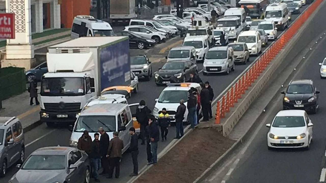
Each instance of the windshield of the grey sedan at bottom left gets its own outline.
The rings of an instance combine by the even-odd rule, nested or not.
[[[23,170],[63,170],[66,168],[64,155],[32,155],[24,165]]]

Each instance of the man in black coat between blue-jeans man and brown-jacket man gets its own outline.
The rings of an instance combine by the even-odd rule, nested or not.
[[[109,158],[106,157],[106,153],[109,149],[110,144],[110,137],[109,135],[104,131],[102,127],[98,129],[98,132],[101,134],[100,138],[100,154],[101,154],[101,165],[103,168],[103,171],[99,175],[108,174],[110,167],[109,167]]]

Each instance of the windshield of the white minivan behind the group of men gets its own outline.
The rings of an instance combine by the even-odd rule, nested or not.
[[[79,116],[74,131],[83,132],[87,130],[89,133],[96,133],[99,127],[102,127],[106,132],[114,132],[115,116]]]

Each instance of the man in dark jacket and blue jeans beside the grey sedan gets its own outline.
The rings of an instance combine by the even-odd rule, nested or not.
[[[95,133],[94,134],[94,141],[92,142],[91,146],[91,161],[93,164],[93,177],[95,178],[95,182],[99,182],[100,180],[98,179],[98,169],[101,168],[101,154],[100,154],[100,142],[98,140],[100,134]]]

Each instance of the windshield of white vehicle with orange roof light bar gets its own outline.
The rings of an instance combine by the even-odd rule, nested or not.
[[[169,90],[162,91],[160,97],[158,98],[158,103],[180,103],[180,100],[183,99],[184,102],[188,100],[188,91],[184,90]]]

